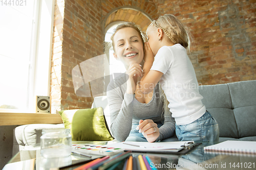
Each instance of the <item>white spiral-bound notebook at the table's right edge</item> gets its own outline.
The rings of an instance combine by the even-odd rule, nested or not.
[[[241,153],[256,154],[256,141],[237,141],[227,140],[218,144],[204,147],[206,152],[225,152],[225,153]]]

